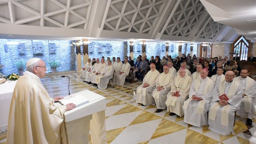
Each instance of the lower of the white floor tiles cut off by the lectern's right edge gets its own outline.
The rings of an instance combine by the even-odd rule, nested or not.
[[[106,119],[106,130],[128,126],[142,111],[113,115]]]

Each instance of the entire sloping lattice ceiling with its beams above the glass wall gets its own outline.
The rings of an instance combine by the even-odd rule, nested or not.
[[[0,38],[232,43],[236,31],[216,23],[201,1],[0,0]]]

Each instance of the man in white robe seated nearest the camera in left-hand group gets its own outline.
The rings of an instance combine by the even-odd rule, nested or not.
[[[114,68],[112,66],[112,61],[108,61],[108,67],[99,74],[96,78],[95,84],[98,85],[99,89],[106,89],[108,87],[109,80],[113,77]]]

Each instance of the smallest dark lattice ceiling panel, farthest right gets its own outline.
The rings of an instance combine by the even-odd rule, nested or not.
[[[219,33],[219,31],[222,30],[222,28],[225,25],[216,23],[212,18],[207,24],[207,26],[204,28],[202,33],[199,35],[199,38],[204,38],[204,39],[214,39],[215,36]]]

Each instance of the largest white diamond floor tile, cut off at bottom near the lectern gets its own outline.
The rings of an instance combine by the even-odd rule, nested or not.
[[[136,144],[150,140],[161,118],[126,127],[111,144]]]

